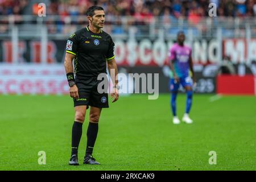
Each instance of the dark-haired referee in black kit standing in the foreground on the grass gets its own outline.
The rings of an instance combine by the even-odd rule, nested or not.
[[[89,26],[76,31],[69,36],[65,53],[65,71],[67,73],[69,93],[73,98],[75,107],[75,122],[72,127],[72,150],[70,165],[79,165],[77,150],[82,135],[82,123],[84,123],[86,109],[90,106],[89,126],[87,129],[87,144],[84,164],[100,164],[92,157],[94,143],[98,133],[98,121],[103,107],[109,107],[108,93],[99,93],[97,80],[100,73],[106,73],[108,69],[114,69],[117,75],[115,63],[114,42],[109,34],[102,31],[105,13],[100,6],[92,6],[86,12]],[[74,60],[74,69],[72,61]],[[76,77],[74,76],[74,73]],[[118,81],[114,80],[114,88],[111,94],[112,102],[118,100]]]

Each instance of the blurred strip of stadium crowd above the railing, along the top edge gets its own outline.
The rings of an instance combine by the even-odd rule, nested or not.
[[[218,16],[255,16],[256,0],[48,0],[40,1],[48,5],[49,15],[84,15],[92,5],[104,7],[106,14],[116,16],[135,16],[139,18],[171,15],[207,16],[208,5],[217,5]],[[39,3],[29,0],[0,0],[0,15],[30,14],[24,10],[29,4]],[[34,14],[36,12],[34,11]]]

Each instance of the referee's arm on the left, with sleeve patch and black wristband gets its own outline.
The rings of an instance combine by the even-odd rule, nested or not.
[[[78,88],[75,84],[75,76],[73,72],[73,59],[76,57],[77,53],[77,35],[72,34],[69,36],[67,46],[64,67],[68,78],[69,94],[73,98],[79,98]]]

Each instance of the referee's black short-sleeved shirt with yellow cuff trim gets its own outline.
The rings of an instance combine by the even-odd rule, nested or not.
[[[111,36],[102,30],[94,34],[88,27],[69,36],[66,52],[76,56],[74,72],[79,80],[106,73],[106,61],[115,57]]]

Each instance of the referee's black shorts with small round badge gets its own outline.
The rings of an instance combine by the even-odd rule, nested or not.
[[[93,107],[109,107],[108,93],[98,93],[98,82],[77,81],[76,86],[79,90],[79,98],[73,98],[74,107],[86,105]]]

